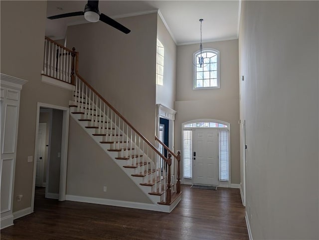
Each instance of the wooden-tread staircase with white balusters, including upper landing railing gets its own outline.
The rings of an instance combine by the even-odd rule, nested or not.
[[[75,48],[67,49],[46,37],[44,59],[43,75],[75,85],[69,102],[71,117],[148,196],[153,205],[147,209],[171,212],[181,199],[179,152],[175,155],[158,138],[155,147],[88,84],[78,73]],[[65,65],[68,70],[63,69]],[[167,158],[160,153],[160,145],[168,150]]]

